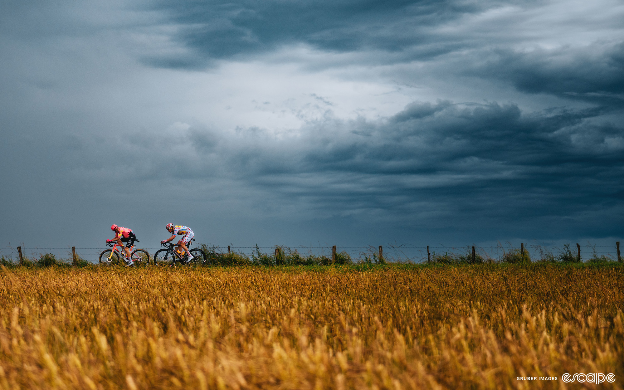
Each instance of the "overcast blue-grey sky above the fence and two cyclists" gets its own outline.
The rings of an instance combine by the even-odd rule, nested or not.
[[[0,241],[619,239],[623,20],[619,0],[2,1]]]

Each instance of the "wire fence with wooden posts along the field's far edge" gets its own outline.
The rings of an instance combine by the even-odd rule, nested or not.
[[[474,248],[475,255],[480,256],[484,260],[500,261],[506,253],[512,253],[513,251],[519,251],[522,248],[530,256],[532,261],[543,260],[547,256],[557,257],[564,251],[573,252],[574,255],[578,255],[580,260],[587,261],[592,258],[601,258],[603,260],[620,260],[620,242],[614,243],[614,245],[586,245],[577,244],[575,246],[565,245],[563,246],[547,246],[547,245],[525,245],[514,246],[510,243],[507,245],[496,246],[445,246],[445,245],[412,245],[412,244],[386,244],[381,246],[367,245],[367,246],[333,246],[333,245],[318,245],[318,246],[218,246],[207,244],[208,248],[212,248],[217,253],[234,252],[239,255],[252,257],[252,253],[260,252],[272,255],[273,251],[277,248],[280,250],[297,251],[303,256],[326,256],[331,258],[334,251],[336,253],[346,253],[350,256],[354,262],[368,260],[376,256],[379,258],[383,256],[384,260],[389,263],[426,263],[427,261],[435,260],[441,256],[472,256],[472,249]],[[200,246],[196,244],[195,247]],[[136,248],[139,248],[138,246]],[[147,250],[150,256],[153,256],[157,250],[162,249],[162,246],[158,247],[140,247]],[[59,260],[71,261],[75,250],[76,256],[90,263],[98,263],[99,256],[102,251],[107,249],[102,248],[22,248],[20,247],[7,247],[0,250],[0,258],[4,258],[7,261],[17,263],[19,261],[19,250],[22,251],[22,256],[28,260],[37,260],[41,256],[51,254],[59,258]]]

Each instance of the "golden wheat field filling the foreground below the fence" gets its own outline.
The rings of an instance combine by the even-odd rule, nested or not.
[[[624,383],[622,266],[3,267],[0,274],[2,389]],[[564,373],[616,379],[563,383]]]

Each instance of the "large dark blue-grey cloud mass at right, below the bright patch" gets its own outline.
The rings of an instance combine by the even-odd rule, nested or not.
[[[624,129],[593,123],[600,113],[415,103],[372,123],[309,124],[304,139],[271,140],[280,153],[236,148],[223,160],[248,182],[313,199],[336,215],[358,210],[366,219],[384,210],[386,222],[412,228],[449,227],[466,212],[561,223],[613,204],[624,188]],[[435,217],[414,220],[421,207]]]

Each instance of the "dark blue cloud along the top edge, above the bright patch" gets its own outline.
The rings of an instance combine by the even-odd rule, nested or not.
[[[529,2],[518,2],[529,4]],[[289,44],[323,51],[402,52],[402,61],[464,47],[431,29],[466,14],[509,2],[394,1],[160,1],[153,9],[179,27],[175,39],[208,59],[248,56]],[[193,62],[149,59],[155,66],[191,67]],[[167,62],[171,61],[171,62]]]

